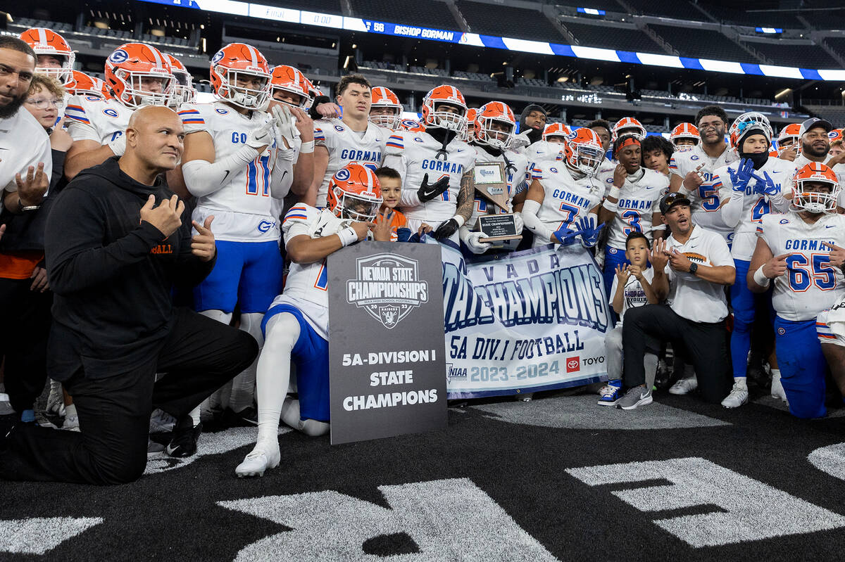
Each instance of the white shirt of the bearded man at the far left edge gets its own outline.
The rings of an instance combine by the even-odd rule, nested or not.
[[[26,177],[30,166],[38,169],[44,163],[47,180],[52,176],[50,137],[41,123],[25,108],[0,120],[0,196],[18,191],[14,176]]]

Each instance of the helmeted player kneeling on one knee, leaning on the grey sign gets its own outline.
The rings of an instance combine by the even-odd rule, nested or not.
[[[329,431],[329,299],[326,258],[344,246],[365,240],[382,203],[373,170],[348,164],[335,172],[328,207],[297,203],[285,215],[282,230],[291,270],[285,290],[273,300],[261,328],[259,356],[259,428],[255,447],[235,473],[263,476],[279,466],[279,419],[306,435]],[[297,365],[298,400],[286,398],[291,362]]]

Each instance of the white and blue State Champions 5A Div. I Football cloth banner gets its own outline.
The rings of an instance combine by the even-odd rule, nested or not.
[[[602,274],[581,245],[474,262],[453,247],[441,251],[450,399],[607,380],[610,310]]]

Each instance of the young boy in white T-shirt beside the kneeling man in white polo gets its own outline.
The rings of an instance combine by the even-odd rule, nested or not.
[[[648,254],[651,249],[648,238],[641,232],[634,231],[625,240],[625,257],[630,265],[616,266],[616,277],[610,294],[613,295],[610,305],[619,315],[619,322],[605,343],[608,350],[608,384],[599,391],[602,397],[598,403],[602,406],[614,406],[623,396],[622,392],[622,322],[625,311],[635,306],[657,304],[657,295],[651,289],[651,279],[654,270],[648,267]],[[649,388],[654,384],[657,371],[657,355],[646,354],[646,384]]]

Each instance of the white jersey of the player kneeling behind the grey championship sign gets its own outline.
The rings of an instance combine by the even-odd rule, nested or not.
[[[329,209],[320,210],[297,203],[286,213],[281,231],[287,245],[299,235],[311,238],[335,235],[351,222],[338,219]],[[329,339],[329,273],[325,264],[325,258],[313,263],[291,262],[285,289],[275,298],[273,305],[286,303],[296,306],[311,327],[324,339]]]

